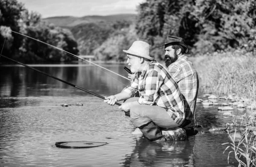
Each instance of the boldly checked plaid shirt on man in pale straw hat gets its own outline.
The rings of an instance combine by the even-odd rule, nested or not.
[[[141,105],[157,105],[166,108],[171,118],[181,124],[185,119],[182,94],[172,75],[159,62],[148,62],[130,87],[124,91],[133,96],[135,90],[140,92],[138,102]]]

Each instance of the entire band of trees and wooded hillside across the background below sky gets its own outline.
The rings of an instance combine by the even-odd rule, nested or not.
[[[245,48],[256,51],[255,0],[145,0],[136,19],[99,22],[65,29],[42,21],[17,0],[0,0],[0,44],[3,53],[25,62],[70,61],[73,57],[25,34],[72,54],[92,54],[98,60],[125,61],[122,51],[134,40],[152,45],[151,54],[163,59],[168,35],[183,37],[190,55]],[[12,30],[12,31],[8,31]]]

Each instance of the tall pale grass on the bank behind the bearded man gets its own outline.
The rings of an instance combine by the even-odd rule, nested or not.
[[[256,99],[256,54],[244,50],[214,52],[191,58],[200,78],[200,91]]]

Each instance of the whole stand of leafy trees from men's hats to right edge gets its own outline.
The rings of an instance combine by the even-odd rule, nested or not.
[[[156,53],[167,35],[183,37],[192,54],[255,51],[255,0],[145,0],[138,12],[137,34]]]

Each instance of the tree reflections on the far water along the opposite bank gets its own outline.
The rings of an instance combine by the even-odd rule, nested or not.
[[[105,65],[106,68],[127,76],[123,65]],[[36,69],[89,91],[103,95],[120,92],[129,81],[90,65],[38,66]],[[23,66],[0,67],[0,96],[67,96],[85,92]]]

